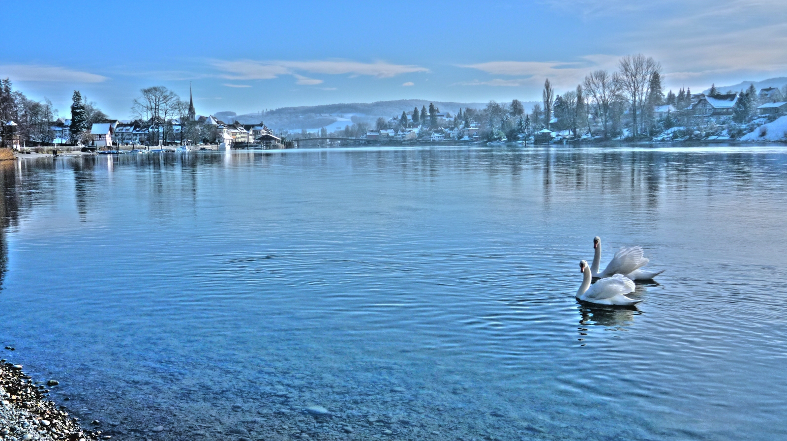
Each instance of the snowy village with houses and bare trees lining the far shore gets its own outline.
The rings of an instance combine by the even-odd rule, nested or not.
[[[752,83],[748,89],[708,93],[690,89],[665,94],[661,66],[641,54],[619,61],[618,72],[597,70],[574,90],[556,94],[545,80],[541,102],[529,111],[523,102],[489,101],[484,108],[403,108],[390,118],[350,119],[319,114],[314,121],[347,121],[343,129],[327,126],[300,131],[273,130],[264,121],[229,122],[201,116],[189,101],[164,86],[140,90],[134,119],[113,119],[98,105],[72,96],[70,118],[58,117],[50,101],[41,103],[0,81],[0,148],[19,153],[74,151],[155,153],[194,149],[286,149],[342,145],[430,143],[568,144],[623,142],[784,142],[787,141],[787,84],[781,88]],[[275,112],[275,111],[273,111]],[[264,112],[260,113],[264,117]],[[330,124],[336,129],[338,124]]]

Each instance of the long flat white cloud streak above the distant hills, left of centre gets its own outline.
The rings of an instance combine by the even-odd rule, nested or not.
[[[298,84],[319,84],[322,80],[309,79],[298,72],[325,75],[368,75],[390,78],[412,72],[429,72],[429,69],[413,64],[390,64],[384,61],[362,63],[349,60],[324,61],[212,61],[212,65],[224,73],[225,79],[274,79],[279,75],[294,75]],[[305,82],[305,83],[301,83]]]

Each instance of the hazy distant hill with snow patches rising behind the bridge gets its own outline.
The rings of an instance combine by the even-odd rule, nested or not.
[[[230,116],[233,112],[220,112],[223,116],[230,116],[224,119],[227,123],[240,121],[244,124],[254,124],[264,121],[265,125],[274,130],[303,130],[320,129],[327,127],[328,131],[338,130],[345,125],[352,125],[353,122],[364,121],[374,124],[375,120],[382,116],[390,118],[394,115],[400,116],[402,111],[412,112],[413,108],[419,110],[423,107],[429,108],[429,104],[434,103],[441,112],[451,112],[456,114],[460,108],[484,108],[486,103],[459,103],[447,101],[428,101],[428,100],[397,100],[397,101],[376,101],[373,103],[345,103],[329,105],[312,105],[302,107],[283,107],[268,112],[247,113],[246,115]],[[533,107],[534,102],[523,102],[527,111]],[[219,114],[217,113],[216,116]]]

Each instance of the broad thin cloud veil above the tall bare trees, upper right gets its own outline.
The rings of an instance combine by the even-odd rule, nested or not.
[[[620,24],[619,53],[662,61],[667,82],[700,86],[787,71],[783,0],[541,0],[589,23]],[[637,24],[630,26],[627,24]]]

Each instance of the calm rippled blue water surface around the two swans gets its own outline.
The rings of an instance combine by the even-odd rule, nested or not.
[[[113,439],[785,439],[785,173],[784,147],[2,164],[0,344]],[[596,235],[666,270],[636,309],[575,300]]]

